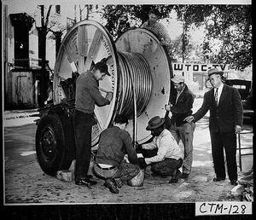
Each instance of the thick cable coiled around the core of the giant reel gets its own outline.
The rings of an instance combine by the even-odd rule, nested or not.
[[[137,101],[137,117],[148,105],[152,91],[152,78],[148,62],[138,53],[118,52],[120,67],[119,101],[117,113],[133,117],[133,90]]]

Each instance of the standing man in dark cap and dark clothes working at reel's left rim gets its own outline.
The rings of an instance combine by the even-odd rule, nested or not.
[[[91,71],[83,72],[76,81],[75,111],[73,113],[73,127],[76,142],[75,184],[90,188],[96,181],[87,175],[90,166],[91,128],[96,124],[94,108],[110,104],[113,93],[108,92],[103,97],[98,88],[98,81],[108,72],[104,62],[97,62]]]

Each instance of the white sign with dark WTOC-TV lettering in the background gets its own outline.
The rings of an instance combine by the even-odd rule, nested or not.
[[[195,64],[195,63],[172,63],[174,72],[207,72],[208,69],[218,68],[220,71],[227,72],[230,69],[228,64]]]

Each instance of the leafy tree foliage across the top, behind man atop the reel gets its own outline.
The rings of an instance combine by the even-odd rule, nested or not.
[[[191,26],[205,26],[206,36],[201,49],[209,61],[231,64],[238,69],[252,63],[252,5],[108,5],[103,9],[103,18],[107,19],[108,31],[116,38],[131,26],[140,26],[148,19],[152,8],[159,9],[160,19],[168,18],[170,12],[175,11],[177,20],[183,21],[185,54],[190,47]],[[216,41],[217,52],[212,49]]]

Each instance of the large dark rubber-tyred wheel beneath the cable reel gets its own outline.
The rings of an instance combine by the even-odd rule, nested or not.
[[[60,114],[44,115],[36,132],[36,152],[41,169],[50,176],[67,170],[74,158],[74,133],[71,118]]]

